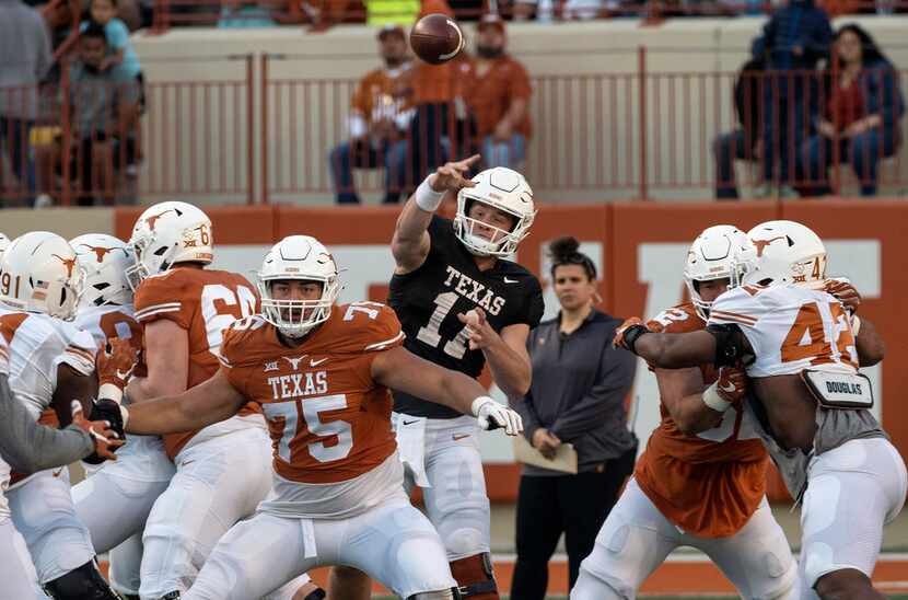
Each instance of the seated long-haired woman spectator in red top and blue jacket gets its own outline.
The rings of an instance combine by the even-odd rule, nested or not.
[[[861,195],[876,195],[876,166],[901,146],[899,119],[905,100],[898,73],[880,51],[876,43],[855,24],[842,26],[836,34],[834,53],[823,77],[824,92],[817,135],[802,148],[806,169],[805,196],[830,194],[826,171],[835,158],[850,161],[861,181]],[[836,64],[837,62],[837,64]]]

